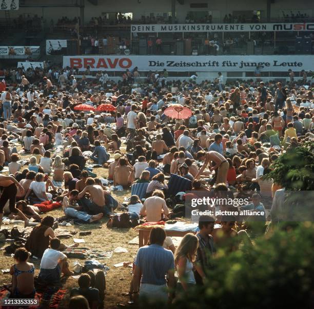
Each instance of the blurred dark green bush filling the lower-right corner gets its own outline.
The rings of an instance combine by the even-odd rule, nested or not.
[[[276,229],[254,246],[218,251],[204,286],[173,304],[181,308],[313,308],[314,223]]]

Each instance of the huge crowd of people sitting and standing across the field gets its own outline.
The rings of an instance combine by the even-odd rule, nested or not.
[[[237,250],[240,241],[250,242],[252,232],[264,233],[266,221],[280,217],[271,213],[272,199],[283,188],[265,176],[284,152],[314,138],[314,88],[307,77],[295,80],[292,71],[287,84],[225,83],[221,73],[213,82],[198,83],[197,74],[171,81],[166,71],[149,72],[139,84],[137,69],[126,71],[119,83],[106,72],[77,81],[71,68],[6,72],[0,169],[8,173],[0,174],[0,225],[4,215],[24,220],[25,226],[38,223],[25,248],[14,253],[8,287],[14,298],[34,296],[29,256],[41,259],[42,282],[72,274],[62,252],[68,246],[54,234],[55,218],[43,215],[49,211],[62,207],[67,218],[84,223],[106,218],[107,228],[158,224],[183,215],[173,202],[182,205],[187,189],[180,188],[180,198],[171,196],[173,175],[188,181],[194,197],[248,194],[250,203],[242,209],[264,213],[258,231],[232,215],[202,216],[197,234],[185,235],[175,248],[163,228],[151,229],[149,245],[136,255],[129,294],[133,301],[140,296],[172,302],[174,290],[182,297],[206,278],[208,253]],[[107,110],[97,109],[103,104]],[[171,107],[189,112],[188,117],[169,115]],[[95,167],[108,169],[107,179],[94,173]],[[112,195],[134,185],[146,186],[144,195],[132,194],[126,204]],[[104,279],[96,281],[82,274],[70,307],[101,307],[104,289],[97,286]]]

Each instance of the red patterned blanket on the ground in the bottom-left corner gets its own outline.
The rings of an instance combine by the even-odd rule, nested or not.
[[[37,290],[37,289],[36,289]],[[64,298],[67,294],[67,290],[58,289],[57,287],[46,287],[43,291],[36,291],[35,299],[37,299],[41,305],[52,309],[61,309],[65,307]],[[4,287],[0,289],[0,299],[8,299],[10,292]],[[8,308],[6,306],[1,306],[0,308]],[[17,308],[15,306],[10,306],[10,308]],[[26,308],[26,307],[25,307]],[[38,306],[28,306],[29,309],[38,309]]]

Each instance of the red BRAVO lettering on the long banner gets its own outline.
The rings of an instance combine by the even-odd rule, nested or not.
[[[106,61],[107,60],[107,61]],[[70,58],[71,68],[87,68],[91,69],[128,69],[132,66],[132,60],[130,58],[99,58],[96,65],[95,58]]]

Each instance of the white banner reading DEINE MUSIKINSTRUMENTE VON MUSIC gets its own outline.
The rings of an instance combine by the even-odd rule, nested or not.
[[[314,23],[131,25],[131,32],[314,31]]]

